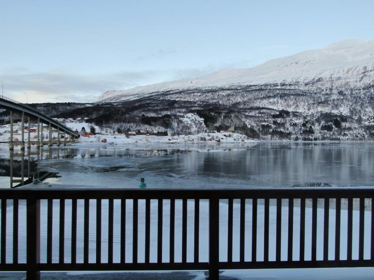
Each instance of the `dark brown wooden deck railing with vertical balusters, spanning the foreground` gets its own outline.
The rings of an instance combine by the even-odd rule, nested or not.
[[[373,197],[373,187],[0,190],[0,270],[28,279],[209,270],[218,279],[225,269],[368,267]]]

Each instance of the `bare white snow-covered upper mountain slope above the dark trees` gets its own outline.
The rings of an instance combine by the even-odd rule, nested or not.
[[[106,91],[96,102],[119,102],[179,91],[235,89],[243,86],[297,88],[364,88],[374,83],[374,41],[344,40],[320,50],[269,60],[248,69],[230,69],[199,78]],[[199,100],[203,96],[174,96]]]

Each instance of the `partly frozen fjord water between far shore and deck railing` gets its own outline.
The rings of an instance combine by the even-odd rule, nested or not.
[[[27,184],[36,171],[52,186],[137,188],[140,177],[148,187],[166,189],[374,186],[374,143],[77,145],[25,154],[1,149],[3,188],[10,187],[10,165],[13,187],[22,185],[22,173]]]

